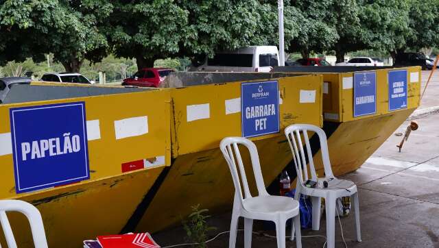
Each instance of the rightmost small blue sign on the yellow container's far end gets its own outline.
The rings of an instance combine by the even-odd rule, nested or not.
[[[407,70],[389,71],[389,110],[407,108]]]

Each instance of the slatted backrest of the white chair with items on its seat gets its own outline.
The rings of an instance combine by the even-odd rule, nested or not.
[[[308,131],[315,132],[320,140],[320,150],[322,151],[325,176],[334,177],[331,169],[331,162],[329,161],[327,135],[324,134],[324,131],[315,125],[289,125],[285,128],[285,136],[287,136],[289,148],[291,148],[293,153],[294,165],[296,166],[298,182],[300,182],[300,184],[303,184],[303,182],[306,182],[309,179],[309,173],[311,173],[311,180],[317,182],[318,179],[311,152],[311,145],[309,145]],[[305,142],[305,146],[303,145],[302,140]],[[307,169],[307,159],[309,162],[309,171]]]

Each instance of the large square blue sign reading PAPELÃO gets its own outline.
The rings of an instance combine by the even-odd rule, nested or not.
[[[10,109],[16,193],[90,178],[85,103]]]

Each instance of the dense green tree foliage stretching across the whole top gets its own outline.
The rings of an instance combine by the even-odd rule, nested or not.
[[[439,45],[439,0],[284,2],[285,48],[305,58]],[[67,71],[108,54],[134,58],[138,68],[165,58],[195,62],[215,51],[278,45],[277,1],[3,0],[0,37],[0,65],[49,53]]]

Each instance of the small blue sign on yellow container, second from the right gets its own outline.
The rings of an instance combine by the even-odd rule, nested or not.
[[[377,75],[354,73],[354,117],[377,112]]]

